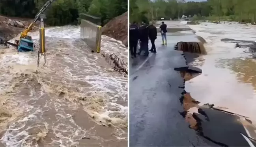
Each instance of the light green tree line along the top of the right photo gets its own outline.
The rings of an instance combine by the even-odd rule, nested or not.
[[[159,20],[161,17],[178,19],[185,15],[193,19],[224,19],[254,23],[255,6],[256,0],[130,0],[130,20]]]

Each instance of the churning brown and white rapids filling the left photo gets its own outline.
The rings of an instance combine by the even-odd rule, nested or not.
[[[29,35],[38,42],[38,32]],[[101,54],[90,52],[79,38],[79,26],[48,28],[45,35],[47,63],[43,66],[41,56],[39,73],[37,50],[0,49],[0,142],[6,147],[71,147],[84,138],[95,144],[126,140],[127,78]],[[120,41],[103,35],[101,47],[127,60]]]

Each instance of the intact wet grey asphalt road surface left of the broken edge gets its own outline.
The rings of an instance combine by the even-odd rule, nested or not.
[[[173,49],[179,41],[174,37],[161,47],[158,36],[157,54],[130,62],[130,147],[209,147],[178,113],[183,78],[174,68],[186,63],[183,52]]]

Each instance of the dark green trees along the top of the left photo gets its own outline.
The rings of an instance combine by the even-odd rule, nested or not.
[[[0,0],[0,14],[34,18],[47,0]],[[47,9],[47,24],[77,24],[79,13],[101,17],[103,24],[127,11],[127,0],[55,0]]]

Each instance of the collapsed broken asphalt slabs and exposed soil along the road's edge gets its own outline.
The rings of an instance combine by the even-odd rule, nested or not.
[[[189,48],[180,47],[177,49],[189,50]],[[189,54],[184,54],[184,57],[190,58]],[[214,108],[214,104],[200,106],[200,102],[185,91],[185,82],[201,74],[200,69],[188,65],[175,70],[180,72],[184,80],[184,86],[180,87],[184,89],[180,97],[184,111],[179,113],[189,123],[189,128],[220,147],[254,147],[256,145],[256,128],[249,118]]]

